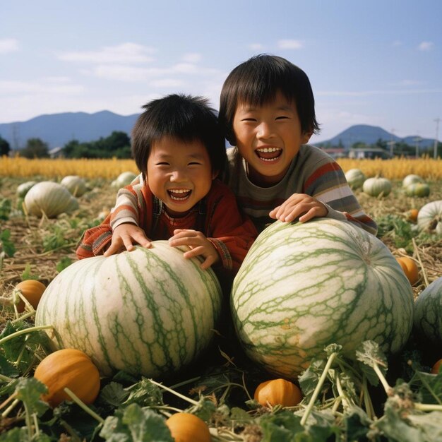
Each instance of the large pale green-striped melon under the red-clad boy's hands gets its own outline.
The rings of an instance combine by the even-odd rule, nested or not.
[[[44,291],[35,324],[54,325],[102,374],[172,374],[207,347],[220,314],[220,284],[200,264],[167,241],[76,261]]]

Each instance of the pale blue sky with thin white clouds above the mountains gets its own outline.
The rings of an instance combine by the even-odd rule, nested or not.
[[[136,114],[172,92],[217,109],[229,71],[265,52],[309,76],[313,142],[353,124],[434,138],[441,18],[440,0],[1,1],[0,123]]]

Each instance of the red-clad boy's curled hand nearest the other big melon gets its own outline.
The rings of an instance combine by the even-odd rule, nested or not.
[[[215,246],[197,230],[175,229],[174,236],[169,238],[169,245],[172,247],[189,246],[191,250],[184,252],[184,258],[193,258],[193,256],[203,256],[205,261],[200,267],[205,270],[210,265],[220,261],[220,256]]]

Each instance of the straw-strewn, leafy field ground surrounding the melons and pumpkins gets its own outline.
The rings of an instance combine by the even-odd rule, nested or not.
[[[110,181],[90,181],[80,208],[56,220],[27,217],[16,187],[24,179],[3,178],[0,186],[0,294],[7,297],[23,279],[47,285],[76,259],[81,233],[100,222],[114,203]],[[395,256],[419,264],[414,295],[442,275],[442,238],[418,232],[412,208],[442,199],[441,183],[426,198],[405,196],[400,182],[387,198],[356,191],[378,222],[378,237]],[[254,388],[272,376],[251,364],[225,321],[210,350],[174,378],[150,380],[119,372],[103,378],[94,405],[64,402],[54,410],[40,400],[44,386],[32,372],[51,351],[32,314],[20,320],[0,306],[0,441],[172,441],[165,417],[193,412],[210,424],[213,441],[440,441],[442,374],[430,374],[441,349],[414,337],[386,359],[374,342],[359,349],[357,362],[330,345],[324,359],[312,361],[299,378],[304,398],[296,407],[261,407]]]

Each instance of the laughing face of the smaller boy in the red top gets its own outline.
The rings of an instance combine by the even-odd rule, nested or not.
[[[170,216],[186,215],[210,191],[215,176],[201,141],[184,143],[165,136],[153,143],[148,157],[148,186],[165,203]]]

